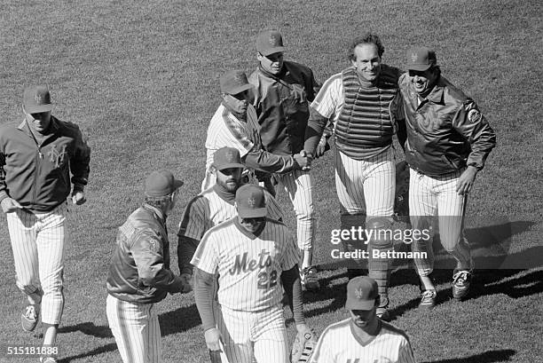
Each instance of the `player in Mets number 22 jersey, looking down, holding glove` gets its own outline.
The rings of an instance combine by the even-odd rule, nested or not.
[[[293,302],[298,333],[309,331],[295,242],[285,225],[266,217],[261,186],[241,186],[235,205],[238,215],[211,228],[191,261],[206,344],[210,351],[219,351],[223,343],[229,362],[287,363],[283,287]],[[211,307],[216,272],[218,314]]]

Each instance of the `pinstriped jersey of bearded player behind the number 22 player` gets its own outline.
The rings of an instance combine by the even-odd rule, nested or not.
[[[280,221],[283,218],[283,211],[278,202],[268,191],[264,191],[264,197],[268,210],[267,217]],[[204,233],[208,232],[211,227],[220,225],[237,214],[233,200],[224,200],[211,186],[198,194],[186,206],[177,234],[200,241]]]

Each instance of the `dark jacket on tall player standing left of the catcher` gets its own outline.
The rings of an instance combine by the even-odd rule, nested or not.
[[[302,151],[309,102],[319,91],[311,69],[285,61],[278,75],[258,67],[248,82],[255,86],[254,105],[264,150],[279,155]]]

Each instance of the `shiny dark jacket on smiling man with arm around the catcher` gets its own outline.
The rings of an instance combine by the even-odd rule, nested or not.
[[[399,80],[405,109],[405,160],[414,170],[439,176],[471,165],[481,170],[496,134],[473,99],[439,77],[419,105],[409,75]]]

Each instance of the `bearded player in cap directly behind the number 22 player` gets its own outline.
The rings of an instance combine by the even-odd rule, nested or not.
[[[237,215],[234,198],[236,191],[243,183],[241,172],[244,167],[241,163],[240,152],[236,148],[221,147],[213,154],[213,162],[209,169],[216,179],[216,184],[189,202],[177,232],[179,237],[177,261],[181,276],[186,280],[192,280],[191,259],[204,233],[211,227]],[[267,191],[264,195],[268,209],[267,216],[281,221],[283,212],[279,204]]]

